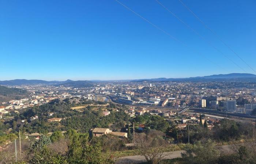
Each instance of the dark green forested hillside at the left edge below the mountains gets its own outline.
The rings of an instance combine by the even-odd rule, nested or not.
[[[11,99],[22,99],[28,95],[27,90],[18,88],[8,88],[0,85],[0,103]]]

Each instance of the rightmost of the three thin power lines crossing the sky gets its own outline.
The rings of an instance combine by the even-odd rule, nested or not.
[[[193,16],[196,17],[197,20],[199,20],[200,23],[203,24],[204,27],[206,27],[208,30],[210,30],[212,32],[212,34],[214,34],[215,36],[217,36],[217,38],[227,47],[229,48],[230,51],[232,51],[238,58],[240,58],[248,67],[250,67],[255,73],[256,71],[248,64],[245,62],[245,60],[243,60],[229,45],[227,45],[219,35],[217,35],[210,27],[208,27],[190,8],[187,7],[187,5],[185,5],[181,0],[178,0],[180,1],[180,3],[188,9],[189,12],[192,13]]]

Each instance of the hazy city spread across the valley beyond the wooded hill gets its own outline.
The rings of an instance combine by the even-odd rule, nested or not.
[[[230,113],[235,116],[249,117],[256,108],[256,86],[255,77],[252,82],[245,82],[248,79],[244,74],[236,74],[237,77],[230,78],[191,78],[167,81],[162,79],[132,80],[132,81],[0,81],[5,86],[27,90],[22,99],[1,100],[1,118],[4,114],[20,112],[32,106],[38,106],[53,99],[87,99],[102,102],[114,102],[118,104],[136,107],[131,117],[142,115],[142,109],[150,110],[152,114],[168,115],[168,110],[182,110],[200,112],[215,112],[225,116]],[[240,80],[234,80],[235,78]],[[198,82],[200,79],[201,82]],[[205,79],[205,80],[202,80]],[[211,79],[211,80],[209,80]],[[9,85],[7,85],[9,83]],[[20,85],[17,85],[20,83]],[[20,91],[19,90],[19,91]],[[6,101],[4,101],[6,100]],[[154,109],[154,110],[153,110]],[[157,109],[161,109],[157,111]],[[190,109],[190,110],[189,110]],[[180,112],[180,111],[179,111]],[[187,111],[184,111],[184,113]],[[253,112],[256,115],[256,111]],[[169,115],[168,115],[169,116]]]

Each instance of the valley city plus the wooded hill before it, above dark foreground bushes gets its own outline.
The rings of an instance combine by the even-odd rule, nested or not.
[[[0,88],[1,127],[6,133],[22,131],[24,142],[75,129],[96,137],[111,134],[129,145],[131,133],[155,129],[170,142],[186,143],[189,126],[191,133],[197,126],[215,131],[222,120],[255,126],[253,82],[14,81],[2,81]],[[10,145],[1,144],[1,149]]]

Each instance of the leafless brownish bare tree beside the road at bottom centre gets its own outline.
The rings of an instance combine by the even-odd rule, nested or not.
[[[150,130],[148,133],[139,133],[135,136],[135,147],[148,163],[158,164],[168,153],[168,143],[163,139],[164,133]]]

